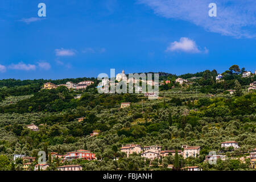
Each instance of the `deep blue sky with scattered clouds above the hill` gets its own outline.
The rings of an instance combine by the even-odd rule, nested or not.
[[[46,18],[38,4],[46,4]],[[0,79],[256,69],[256,2],[0,1]]]

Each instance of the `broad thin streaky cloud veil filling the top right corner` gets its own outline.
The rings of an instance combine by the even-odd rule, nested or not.
[[[235,38],[256,37],[255,0],[215,0],[217,17],[208,15],[210,0],[137,0],[165,18],[187,20],[210,32]]]

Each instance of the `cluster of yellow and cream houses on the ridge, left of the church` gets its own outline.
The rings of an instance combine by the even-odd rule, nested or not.
[[[93,84],[93,81],[81,81],[78,84],[73,83],[72,81],[68,81],[66,84],[60,84],[60,85],[55,85],[52,84],[51,82],[47,82],[44,84],[44,89],[54,89],[57,88],[58,86],[66,86],[68,89],[86,89],[87,86]]]

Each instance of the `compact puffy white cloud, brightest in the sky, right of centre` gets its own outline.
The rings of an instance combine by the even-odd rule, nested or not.
[[[180,38],[179,42],[175,41],[170,43],[167,47],[166,52],[182,51],[189,53],[201,53],[203,51],[196,45],[196,42],[189,38]],[[208,53],[208,49],[205,48],[205,53]]]

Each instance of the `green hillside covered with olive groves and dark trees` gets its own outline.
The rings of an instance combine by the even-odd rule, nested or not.
[[[232,67],[230,67],[232,68]],[[199,166],[203,170],[251,170],[250,152],[256,148],[256,93],[248,90],[256,76],[242,77],[229,69],[216,81],[216,71],[181,76],[161,73],[160,98],[148,100],[144,94],[99,94],[95,78],[63,80],[0,80],[0,170],[23,170],[14,154],[38,159],[46,151],[49,167],[80,164],[84,170],[168,170],[176,165],[175,156],[144,160],[140,154],[126,157],[125,144],[162,146],[162,150],[184,150],[181,145],[200,146],[200,154],[184,159],[179,168]],[[179,84],[176,78],[188,79]],[[192,78],[195,77],[195,78]],[[192,79],[189,79],[192,78]],[[85,90],[42,89],[44,82],[94,81]],[[227,90],[235,90],[230,94]],[[81,98],[75,99],[77,94]],[[130,107],[120,108],[122,102]],[[77,118],[84,118],[81,122]],[[38,126],[38,131],[27,125]],[[93,131],[98,135],[91,136]],[[221,142],[236,141],[240,148],[221,147]],[[89,150],[97,160],[52,159],[56,152]],[[204,162],[209,151],[228,156],[217,164]],[[245,157],[245,160],[241,160]],[[114,160],[118,159],[118,160]],[[15,164],[14,164],[15,163]],[[37,160],[31,162],[34,170]],[[182,165],[182,166],[181,166]]]

